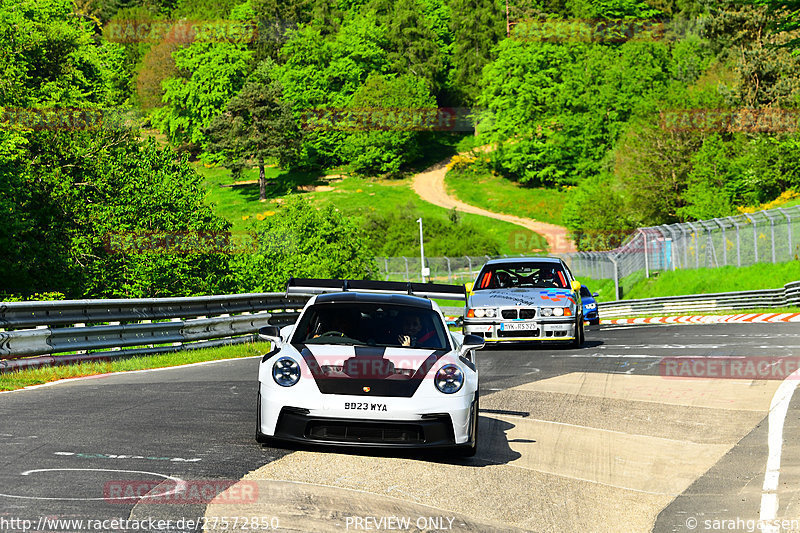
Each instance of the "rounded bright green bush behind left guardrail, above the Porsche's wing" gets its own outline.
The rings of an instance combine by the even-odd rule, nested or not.
[[[362,232],[332,206],[290,197],[255,229],[258,251],[233,260],[236,284],[247,291],[280,291],[292,276],[370,279],[376,271]]]

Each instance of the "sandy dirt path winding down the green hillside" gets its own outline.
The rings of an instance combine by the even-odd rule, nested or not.
[[[482,215],[485,217],[494,218],[497,220],[504,220],[511,222],[523,228],[536,232],[547,239],[547,244],[550,247],[550,253],[559,254],[577,251],[575,244],[567,236],[567,228],[556,226],[555,224],[548,224],[546,222],[539,222],[530,218],[517,217],[514,215],[505,215],[501,213],[492,213],[486,209],[469,205],[461,200],[450,196],[445,188],[444,175],[447,173],[447,164],[450,159],[440,161],[420,172],[414,176],[412,187],[420,198],[424,201],[444,207],[446,209],[456,208],[463,213],[472,213],[475,215]],[[520,252],[526,251],[523,249],[527,238],[524,234],[509,236],[512,248],[518,249]]]

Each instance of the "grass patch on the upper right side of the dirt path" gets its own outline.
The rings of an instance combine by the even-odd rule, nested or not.
[[[533,189],[490,173],[463,170],[448,172],[445,185],[451,194],[470,205],[558,225],[568,194],[560,189]]]

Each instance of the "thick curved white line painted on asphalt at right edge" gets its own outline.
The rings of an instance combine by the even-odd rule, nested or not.
[[[800,384],[800,370],[795,370],[783,383],[780,384],[769,406],[769,436],[767,438],[769,455],[767,468],[764,472],[764,485],[761,493],[761,509],[759,518],[763,524],[764,533],[778,533],[779,528],[771,521],[778,514],[778,478],[781,473],[781,451],[783,449],[783,425],[789,402],[792,401],[797,385]]]

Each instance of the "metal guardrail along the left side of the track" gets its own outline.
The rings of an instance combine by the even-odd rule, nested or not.
[[[250,342],[262,326],[293,323],[308,298],[263,293],[0,303],[0,328],[7,330],[0,330],[0,372]]]

